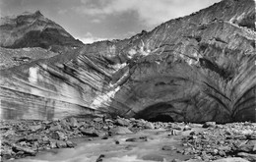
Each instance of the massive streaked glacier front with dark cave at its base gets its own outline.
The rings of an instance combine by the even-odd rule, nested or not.
[[[124,40],[1,71],[1,118],[256,121],[255,10],[224,0]]]

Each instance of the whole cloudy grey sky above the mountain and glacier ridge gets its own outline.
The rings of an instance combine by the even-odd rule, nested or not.
[[[84,43],[123,39],[221,0],[0,0],[0,16],[39,10]]]

